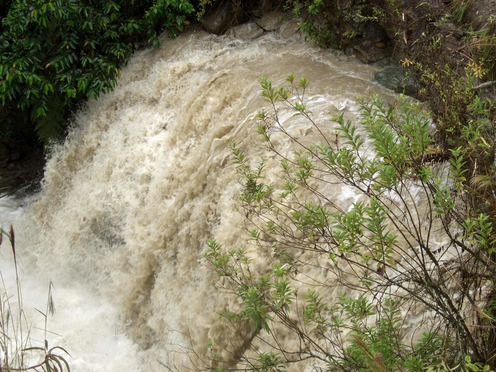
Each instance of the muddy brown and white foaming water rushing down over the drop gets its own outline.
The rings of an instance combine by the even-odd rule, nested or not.
[[[203,352],[209,340],[230,337],[217,311],[233,299],[215,287],[200,255],[212,238],[246,245],[225,141],[235,137],[251,155],[262,153],[249,140],[254,114],[267,105],[257,76],[275,85],[288,73],[308,77],[309,106],[328,126],[325,110],[346,108],[354,117],[358,94],[387,94],[372,83],[380,67],[309,45],[295,23],[280,25],[275,15],[258,23],[275,30],[248,23],[217,39],[192,28],[137,52],[115,91],[73,118],[42,191],[8,216],[26,317],[44,327],[34,308],[46,307],[52,280],[56,314],[47,338],[69,351],[72,371],[165,371],[157,360],[175,345],[191,341]],[[308,124],[292,125],[311,138]],[[356,200],[347,188],[332,192],[344,204]],[[43,340],[32,332],[34,345]],[[176,365],[182,369],[181,355]]]

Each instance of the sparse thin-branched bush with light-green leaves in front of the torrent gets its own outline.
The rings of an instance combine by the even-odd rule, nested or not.
[[[274,88],[261,78],[271,112],[257,114],[256,132],[279,160],[280,182],[265,183],[265,158],[253,164],[229,143],[249,241],[271,251],[275,264],[257,273],[246,249],[214,240],[203,255],[222,278],[217,285],[242,304],[220,315],[243,340],[249,322],[265,346],[231,358],[219,350],[200,367],[216,363],[222,371],[234,358],[254,371],[298,362],[329,371],[494,368],[496,318],[488,309],[496,235],[493,219],[467,202],[466,149],[441,150],[429,113],[403,96],[391,107],[377,96],[363,98],[359,125],[337,113],[335,134],[326,132],[304,102],[308,80],[287,81],[289,89]],[[283,110],[303,116],[322,143],[296,140]],[[281,135],[298,147],[293,156],[272,140]],[[358,201],[348,208],[333,200],[332,184],[352,188]],[[310,274],[312,267],[321,276]],[[337,300],[330,296],[336,289]],[[409,316],[418,321],[418,340],[405,341]],[[297,340],[285,343],[281,327]]]

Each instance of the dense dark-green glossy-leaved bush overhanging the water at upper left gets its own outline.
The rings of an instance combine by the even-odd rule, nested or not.
[[[42,140],[64,110],[114,89],[142,40],[175,36],[194,12],[188,0],[18,0],[1,20],[0,102],[31,110]],[[57,130],[56,132],[58,132]]]

